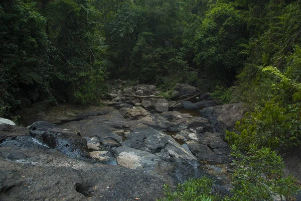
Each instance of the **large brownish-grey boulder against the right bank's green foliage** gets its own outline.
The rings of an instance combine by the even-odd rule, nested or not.
[[[224,129],[231,131],[235,123],[244,118],[244,110],[241,103],[222,106],[207,107],[200,111],[219,132]]]

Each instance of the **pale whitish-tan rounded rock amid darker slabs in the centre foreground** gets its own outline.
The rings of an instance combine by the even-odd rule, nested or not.
[[[117,164],[130,169],[152,170],[160,163],[166,163],[159,156],[130,147],[118,147],[113,152]]]

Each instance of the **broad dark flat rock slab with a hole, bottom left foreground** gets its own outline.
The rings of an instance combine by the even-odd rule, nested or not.
[[[9,156],[13,152],[15,156]],[[163,184],[172,184],[167,175],[71,159],[39,147],[2,146],[0,164],[4,201],[156,200],[164,195]]]

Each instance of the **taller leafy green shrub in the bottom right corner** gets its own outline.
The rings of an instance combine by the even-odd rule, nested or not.
[[[236,146],[232,146],[235,172],[232,174],[233,196],[225,201],[239,200],[273,200],[281,197],[283,200],[294,200],[293,195],[299,186],[290,176],[283,177],[284,162],[271,148],[257,146],[248,147],[247,154],[240,153]]]

